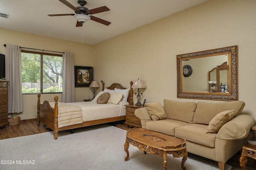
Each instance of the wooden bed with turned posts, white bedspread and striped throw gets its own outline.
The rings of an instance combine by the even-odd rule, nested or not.
[[[101,81],[102,82],[102,81]],[[61,103],[58,104],[58,96],[54,97],[54,102],[44,101],[40,102],[41,95],[38,94],[37,102],[37,126],[40,126],[40,123],[46,125],[54,132],[54,139],[58,138],[58,132],[64,130],[72,130],[79,127],[86,127],[91,125],[98,125],[103,123],[110,123],[114,121],[125,120],[125,104],[133,105],[133,82],[130,82],[130,91],[128,93],[127,102],[119,102],[119,104],[97,104],[97,102],[76,102],[76,103]],[[113,83],[108,88],[104,88],[104,82],[102,82],[102,91],[107,90],[122,90],[126,89],[118,83]],[[97,97],[97,96],[96,96]],[[110,109],[109,109],[110,107]],[[87,109],[87,111],[86,111]],[[106,111],[106,110],[109,111]],[[120,110],[121,109],[121,110]],[[81,115],[69,115],[71,111],[82,111]],[[88,112],[88,114],[84,114]],[[60,114],[61,113],[61,114]],[[96,116],[96,113],[100,113],[100,116]],[[105,117],[102,117],[105,115]],[[73,123],[66,123],[65,121],[70,119]],[[81,121],[82,119],[82,121]]]

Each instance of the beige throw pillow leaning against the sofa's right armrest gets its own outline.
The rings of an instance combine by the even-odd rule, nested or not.
[[[209,123],[206,133],[218,133],[220,128],[233,119],[233,117],[236,115],[235,110],[226,110],[218,113]]]

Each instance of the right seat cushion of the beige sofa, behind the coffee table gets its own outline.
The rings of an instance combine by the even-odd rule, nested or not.
[[[191,141],[208,147],[215,147],[216,133],[205,133],[207,125],[189,124],[181,127],[176,127],[175,137],[184,138],[186,141]]]

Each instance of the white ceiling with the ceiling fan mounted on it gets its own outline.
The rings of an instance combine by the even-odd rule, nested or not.
[[[67,0],[73,6],[80,6],[77,0]],[[83,27],[76,27],[73,16],[47,14],[75,14],[58,0],[0,0],[0,27],[76,41],[87,44],[100,43],[148,23],[160,20],[208,0],[87,0],[84,6],[94,9],[107,6],[110,11],[93,14],[111,24],[106,26],[89,20]]]

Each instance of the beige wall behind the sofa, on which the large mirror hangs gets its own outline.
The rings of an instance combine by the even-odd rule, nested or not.
[[[176,55],[238,45],[238,97],[246,103],[243,112],[256,119],[255,6],[255,0],[210,0],[94,45],[96,80],[129,87],[140,78],[146,102],[218,102],[177,98]]]

